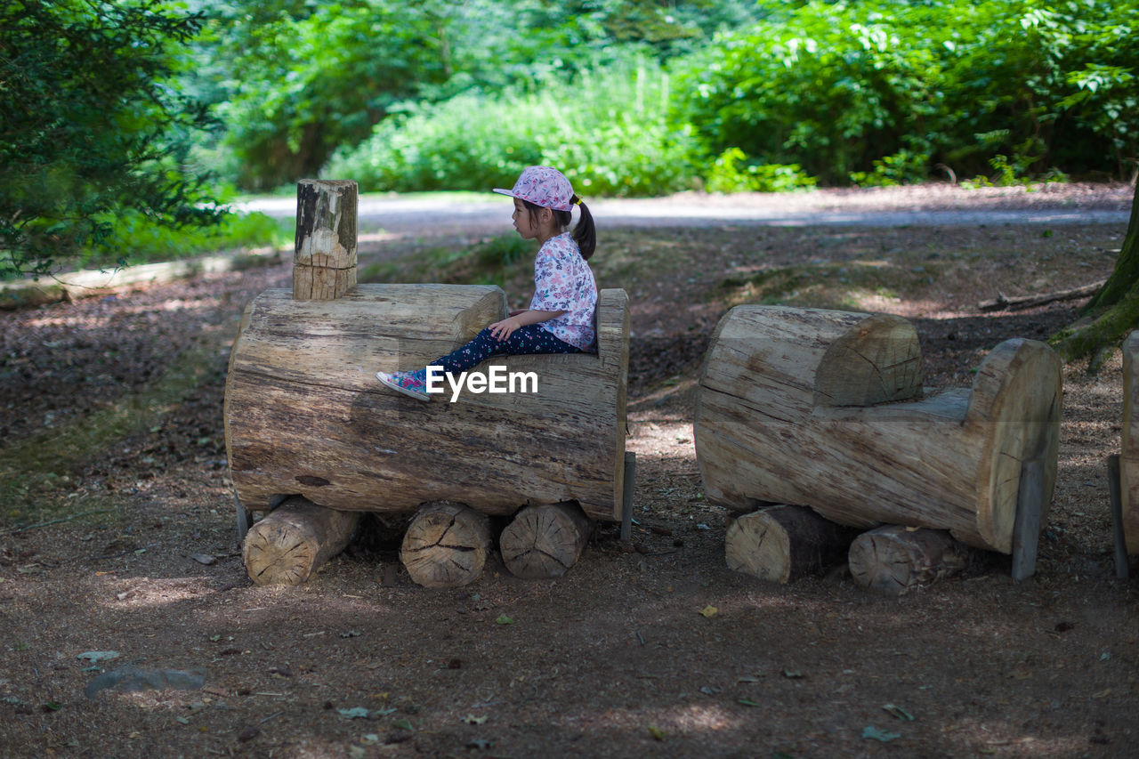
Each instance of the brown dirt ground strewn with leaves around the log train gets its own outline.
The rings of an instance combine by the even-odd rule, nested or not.
[[[910,207],[1131,199],[1125,187],[918,193]],[[1096,375],[1065,369],[1056,491],[1021,582],[1003,556],[891,598],[842,568],[788,586],[734,573],[691,424],[700,356],[732,304],[909,317],[926,383],[967,386],[1001,340],[1044,338],[1082,303],[990,313],[978,301],[1101,279],[1123,234],[601,230],[599,283],[632,303],[632,540],[601,524],[558,580],[519,580],[494,556],[449,590],[412,583],[378,529],[305,586],[245,573],[223,383],[238,316],[287,285],[284,259],[0,313],[0,756],[1134,756],[1136,585],[1115,579],[1104,466],[1120,446],[1117,352]],[[441,244],[370,239],[362,267]],[[505,283],[518,300],[526,266]],[[123,667],[158,687],[99,689]]]

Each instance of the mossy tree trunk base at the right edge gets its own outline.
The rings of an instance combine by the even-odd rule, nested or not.
[[[1115,269],[1081,315],[1049,341],[1065,361],[1114,349],[1139,323],[1139,183]]]

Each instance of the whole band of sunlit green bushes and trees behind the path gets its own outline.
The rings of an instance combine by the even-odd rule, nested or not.
[[[195,87],[227,129],[199,155],[247,188],[360,166],[377,189],[484,189],[530,163],[592,194],[1000,183],[1123,177],[1139,149],[1137,0],[211,8]]]

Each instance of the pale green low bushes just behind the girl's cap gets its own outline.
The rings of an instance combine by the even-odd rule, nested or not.
[[[366,190],[486,190],[547,164],[587,199],[686,189],[695,144],[667,128],[667,77],[640,60],[581,72],[571,84],[409,105],[326,173]]]

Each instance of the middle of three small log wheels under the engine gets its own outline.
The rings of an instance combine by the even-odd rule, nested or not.
[[[416,513],[400,561],[426,588],[456,588],[478,579],[490,549],[490,519],[464,504],[441,500]]]

